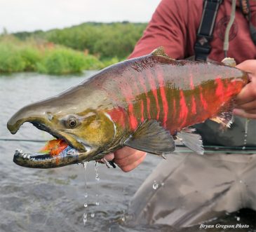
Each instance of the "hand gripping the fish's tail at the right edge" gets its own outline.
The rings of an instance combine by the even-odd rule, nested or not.
[[[256,60],[245,60],[236,67],[249,73],[250,82],[237,95],[233,114],[244,118],[256,118]]]

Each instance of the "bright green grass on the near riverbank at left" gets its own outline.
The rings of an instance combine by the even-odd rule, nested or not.
[[[100,61],[93,55],[46,42],[20,41],[12,36],[0,38],[0,73],[73,74],[85,69],[102,69],[116,62],[119,62],[116,57]]]

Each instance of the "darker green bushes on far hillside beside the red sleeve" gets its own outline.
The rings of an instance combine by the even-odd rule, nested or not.
[[[76,50],[89,50],[90,54],[100,55],[100,59],[127,57],[142,36],[146,23],[87,22],[65,29],[45,32],[44,38]]]

